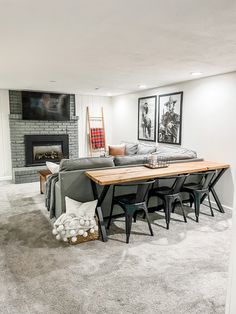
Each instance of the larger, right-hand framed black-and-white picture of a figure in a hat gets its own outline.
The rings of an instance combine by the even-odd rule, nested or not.
[[[159,96],[158,142],[181,145],[183,92]]]

